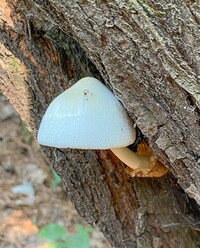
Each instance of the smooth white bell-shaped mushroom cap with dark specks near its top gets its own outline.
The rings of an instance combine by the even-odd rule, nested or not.
[[[58,148],[111,149],[135,141],[133,122],[99,80],[85,77],[57,96],[46,110],[38,142]]]

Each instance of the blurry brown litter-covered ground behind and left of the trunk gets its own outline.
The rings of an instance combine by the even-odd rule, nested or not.
[[[60,224],[72,234],[77,224],[88,227],[62,185],[51,188],[52,180],[39,145],[0,95],[0,248],[47,247],[38,231],[49,223]],[[90,248],[109,247],[94,230]]]

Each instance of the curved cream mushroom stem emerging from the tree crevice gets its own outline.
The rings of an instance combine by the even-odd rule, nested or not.
[[[146,169],[150,167],[150,158],[139,156],[127,147],[110,149],[124,164],[132,169]]]

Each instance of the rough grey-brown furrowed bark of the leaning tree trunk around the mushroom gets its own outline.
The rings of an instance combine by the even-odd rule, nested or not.
[[[109,151],[44,149],[113,247],[200,247],[200,3],[157,2],[0,2],[0,90],[34,134],[56,95],[95,76],[170,169],[130,178]]]

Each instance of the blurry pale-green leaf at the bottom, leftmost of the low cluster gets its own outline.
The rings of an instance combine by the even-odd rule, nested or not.
[[[48,224],[40,229],[39,237],[45,240],[65,240],[66,230],[58,224]]]

